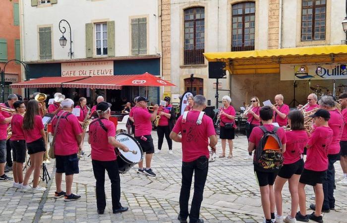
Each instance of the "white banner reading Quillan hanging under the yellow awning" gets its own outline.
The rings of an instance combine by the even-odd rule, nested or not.
[[[347,79],[346,64],[298,65],[281,64],[281,80]]]

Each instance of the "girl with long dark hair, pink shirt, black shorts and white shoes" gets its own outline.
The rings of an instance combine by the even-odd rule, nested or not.
[[[39,178],[43,156],[46,151],[47,139],[39,112],[39,103],[30,100],[23,118],[23,129],[25,141],[30,156],[31,165],[27,168],[21,192],[32,191],[32,193],[44,192],[46,188],[39,186]],[[33,187],[28,184],[29,177],[34,170]]]

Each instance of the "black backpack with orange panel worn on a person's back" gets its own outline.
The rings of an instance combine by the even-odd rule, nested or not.
[[[277,135],[279,127],[275,126],[272,131],[269,131],[265,126],[259,126],[264,132],[261,137],[255,153],[254,167],[262,172],[275,172],[283,166],[282,142]]]

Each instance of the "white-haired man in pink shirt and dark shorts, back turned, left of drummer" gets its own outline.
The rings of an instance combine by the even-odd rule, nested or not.
[[[73,174],[79,172],[77,153],[83,140],[81,125],[77,117],[71,113],[73,104],[71,99],[64,99],[61,102],[62,110],[52,120],[52,134],[55,134],[56,137],[54,153],[57,167],[57,191],[55,192],[55,198],[64,196],[64,201],[74,201],[81,198],[81,196],[75,195],[71,191]],[[55,132],[57,124],[58,128]],[[61,189],[62,173],[65,173],[66,192]]]

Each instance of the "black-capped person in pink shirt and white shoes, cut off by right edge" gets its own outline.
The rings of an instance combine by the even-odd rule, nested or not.
[[[339,101],[340,101],[340,105],[341,105],[341,113],[342,113],[342,117],[345,121],[344,124],[344,130],[342,133],[342,137],[341,137],[341,141],[340,141],[340,155],[341,155],[341,160],[340,160],[340,164],[342,167],[342,170],[344,172],[344,176],[343,179],[339,182],[337,182],[337,184],[340,185],[347,185],[347,93],[342,93],[339,96]]]

